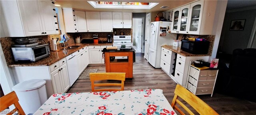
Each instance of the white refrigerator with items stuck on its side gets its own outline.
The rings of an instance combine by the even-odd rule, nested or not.
[[[151,22],[148,62],[155,68],[161,68],[161,46],[172,45],[176,40],[177,34],[169,33],[171,27],[171,22]]]

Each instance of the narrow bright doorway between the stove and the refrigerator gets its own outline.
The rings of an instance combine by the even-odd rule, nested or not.
[[[142,53],[143,20],[144,18],[132,18],[132,44],[135,53]]]

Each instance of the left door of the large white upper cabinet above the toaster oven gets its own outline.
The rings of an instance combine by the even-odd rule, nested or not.
[[[37,0],[17,0],[25,36],[42,34],[42,22]]]

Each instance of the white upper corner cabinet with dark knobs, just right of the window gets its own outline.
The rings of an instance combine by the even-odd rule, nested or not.
[[[66,32],[87,32],[84,11],[63,8],[62,12]]]

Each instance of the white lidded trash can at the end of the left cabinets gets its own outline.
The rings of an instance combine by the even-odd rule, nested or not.
[[[26,115],[35,113],[47,100],[45,83],[45,80],[28,80],[12,87]]]

